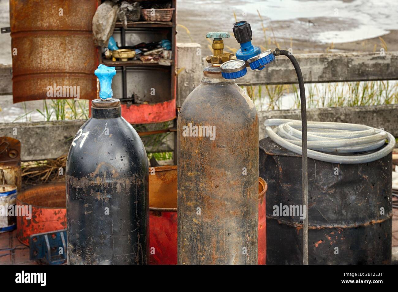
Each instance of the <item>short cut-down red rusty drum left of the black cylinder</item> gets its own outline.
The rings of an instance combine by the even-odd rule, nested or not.
[[[37,185],[20,192],[17,206],[28,208],[27,216],[17,217],[17,237],[29,245],[33,234],[62,230],[66,228],[65,183]],[[30,217],[30,218],[29,218]]]

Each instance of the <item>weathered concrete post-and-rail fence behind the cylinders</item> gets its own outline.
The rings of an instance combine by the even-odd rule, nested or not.
[[[199,44],[178,43],[178,106],[200,84],[201,68],[205,64],[202,63],[203,56],[198,49]],[[384,56],[380,53],[330,53],[296,57],[305,82],[398,80],[398,52],[386,52]],[[12,93],[11,70],[10,65],[0,65],[0,95]],[[238,85],[259,85],[289,84],[296,80],[290,61],[280,56],[266,69],[248,72],[237,81]],[[265,136],[265,119],[300,119],[299,109],[261,111],[258,114],[260,138]],[[308,121],[357,123],[384,128],[398,137],[398,105],[308,109],[307,116]],[[10,136],[21,141],[22,160],[57,158],[68,152],[72,138],[83,123],[84,121],[0,123],[0,136]],[[160,150],[170,151],[173,146],[172,141],[168,141]],[[147,152],[152,151],[147,148]]]

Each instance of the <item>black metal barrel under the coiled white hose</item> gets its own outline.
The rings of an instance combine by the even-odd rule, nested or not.
[[[281,213],[281,206],[302,205],[301,167],[301,156],[260,140],[259,174],[268,183],[267,265],[302,263],[302,220]],[[390,263],[391,169],[391,153],[366,164],[308,159],[310,264]]]

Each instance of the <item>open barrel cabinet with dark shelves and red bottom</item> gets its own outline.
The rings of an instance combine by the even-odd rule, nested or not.
[[[166,2],[164,0],[147,0],[148,2]],[[139,0],[142,2],[142,0]],[[128,21],[127,29],[120,22],[115,24],[113,37],[119,46],[136,45],[140,42],[149,43],[169,39],[172,43],[172,60],[170,65],[158,63],[143,63],[141,60],[112,61],[101,56],[101,63],[107,66],[115,66],[121,78],[114,78],[112,86],[114,95],[121,99],[122,116],[132,124],[161,123],[174,121],[173,128],[160,130],[160,132],[174,132],[176,142],[176,0],[169,1],[174,8],[171,21]],[[129,39],[130,37],[130,39]],[[141,37],[141,39],[140,39]],[[166,79],[166,80],[165,80]],[[156,88],[158,96],[152,98],[148,88]],[[144,91],[144,92],[143,92]],[[138,97],[135,95],[139,95]],[[159,96],[160,95],[160,96]],[[147,101],[142,99],[147,98]],[[139,99],[140,102],[137,102]],[[153,132],[153,133],[152,133]],[[154,134],[152,131],[141,134]],[[176,149],[176,147],[174,147]],[[176,161],[174,153],[174,162]]]

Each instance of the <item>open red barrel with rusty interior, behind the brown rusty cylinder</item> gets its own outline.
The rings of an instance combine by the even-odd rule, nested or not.
[[[151,265],[177,264],[177,166],[149,169],[149,246]],[[265,265],[265,192],[258,181],[258,264]]]

